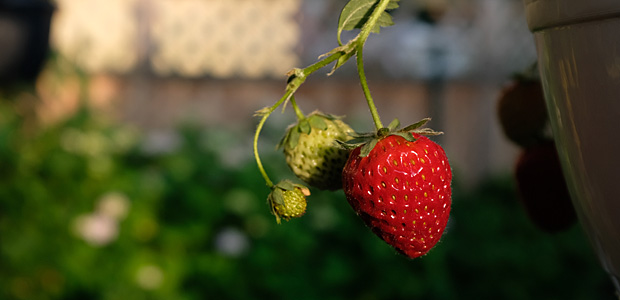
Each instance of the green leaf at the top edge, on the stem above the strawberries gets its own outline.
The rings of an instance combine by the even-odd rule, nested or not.
[[[398,1],[399,0],[391,0],[386,10],[398,8]],[[337,37],[340,45],[342,45],[340,39],[342,31],[362,28],[378,3],[379,0],[351,0],[344,6],[340,13],[340,18],[338,19]],[[371,32],[378,33],[381,27],[391,25],[394,25],[392,16],[387,12],[382,12],[379,20],[377,20],[377,23],[371,29]]]

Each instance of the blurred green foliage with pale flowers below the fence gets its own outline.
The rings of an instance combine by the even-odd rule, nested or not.
[[[457,176],[446,234],[410,260],[342,192],[276,225],[254,162],[217,150],[244,137],[178,134],[146,151],[87,110],[32,131],[2,104],[0,299],[613,299],[581,229],[537,231],[509,176],[467,190]]]

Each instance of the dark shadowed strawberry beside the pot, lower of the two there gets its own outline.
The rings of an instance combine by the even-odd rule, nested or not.
[[[534,225],[554,233],[576,223],[577,215],[553,141],[524,149],[515,171],[521,203]]]

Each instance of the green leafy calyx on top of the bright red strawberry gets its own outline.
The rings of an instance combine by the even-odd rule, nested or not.
[[[412,133],[422,134],[422,135],[440,135],[443,134],[441,131],[435,131],[430,128],[424,128],[423,126],[430,121],[430,118],[424,118],[414,124],[411,124],[402,129],[398,129],[400,126],[400,122],[398,119],[394,119],[388,127],[380,128],[376,132],[368,132],[368,133],[354,133],[352,134],[352,139],[348,141],[338,141],[341,147],[352,150],[358,147],[362,147],[360,149],[360,157],[366,157],[370,154],[372,149],[375,148],[377,143],[388,136],[397,135],[403,137],[405,140],[409,142],[415,142],[416,138]]]

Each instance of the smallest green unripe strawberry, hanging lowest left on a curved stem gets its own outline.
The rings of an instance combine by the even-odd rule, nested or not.
[[[306,213],[306,196],[310,196],[308,188],[289,180],[283,180],[274,185],[267,197],[267,202],[278,224],[280,224],[280,219],[288,221],[303,216]]]

